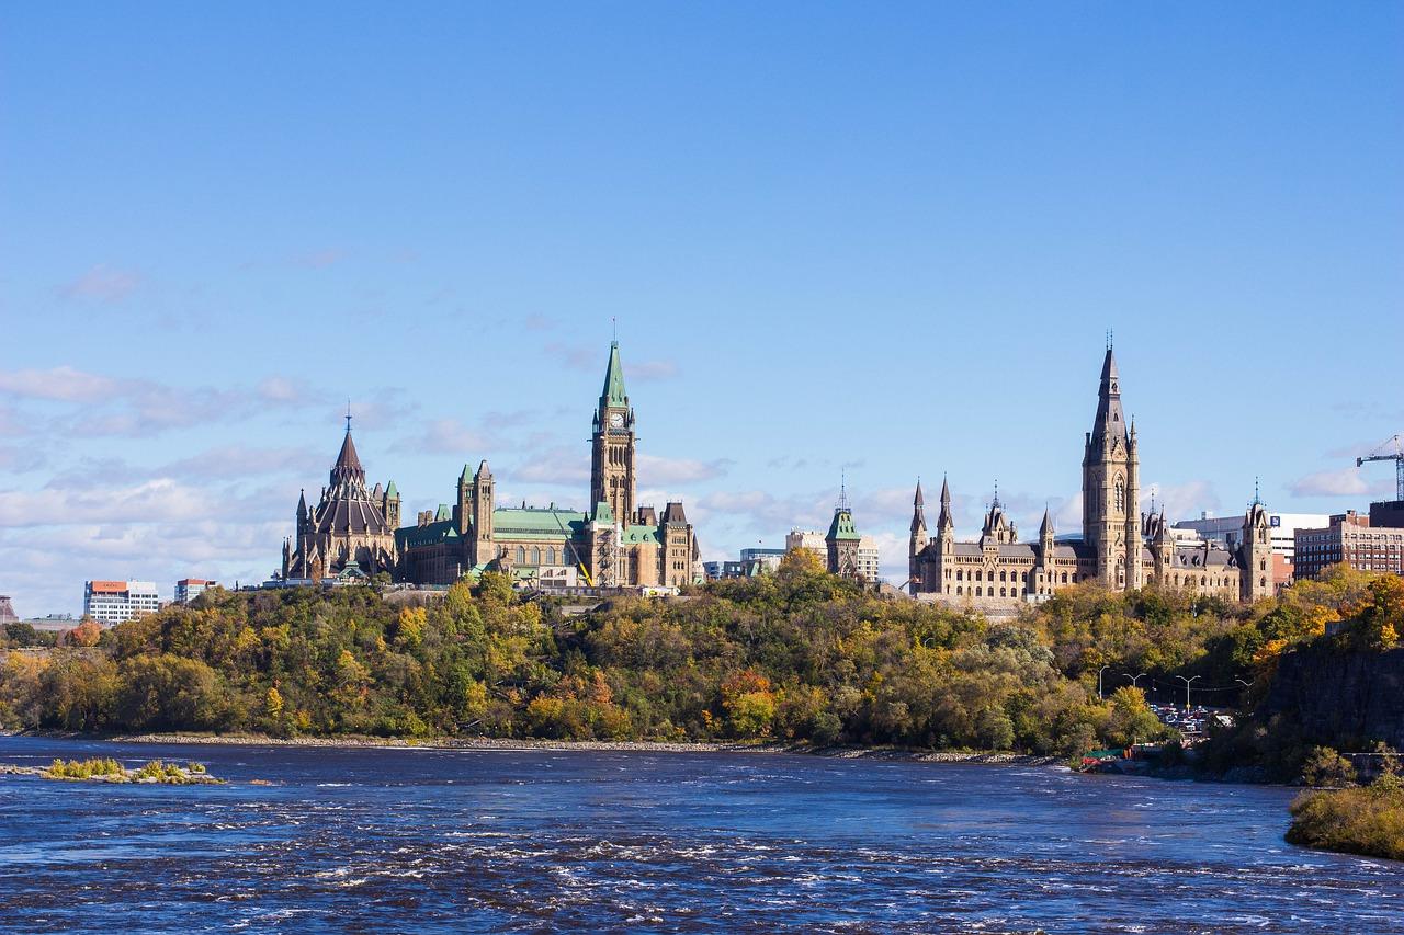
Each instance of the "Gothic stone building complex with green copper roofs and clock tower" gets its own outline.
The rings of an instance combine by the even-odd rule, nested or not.
[[[701,549],[680,501],[639,505],[636,421],[619,343],[609,347],[592,416],[590,511],[500,507],[493,472],[463,466],[453,504],[400,526],[390,482],[365,487],[347,423],[341,452],[316,508],[298,503],[295,539],[284,543],[284,580],[372,576],[442,585],[501,570],[536,587],[678,588],[701,577]]]

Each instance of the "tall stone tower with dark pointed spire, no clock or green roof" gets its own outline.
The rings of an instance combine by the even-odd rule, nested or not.
[[[1097,417],[1082,455],[1082,542],[1097,555],[1097,580],[1113,590],[1140,587],[1140,455],[1122,413],[1116,357],[1106,345]]]

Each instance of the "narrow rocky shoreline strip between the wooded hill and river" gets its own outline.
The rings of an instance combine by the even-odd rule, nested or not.
[[[206,734],[206,733],[146,733],[146,734],[84,734],[69,731],[25,730],[3,731],[11,737],[48,737],[55,740],[95,740],[125,744],[180,745],[246,745],[246,747],[302,747],[302,748],[389,748],[389,750],[580,750],[597,752],[734,752],[734,754],[800,754],[834,760],[878,760],[890,762],[965,762],[980,765],[1049,767],[1060,757],[969,750],[910,750],[903,747],[813,747],[785,741],[649,741],[649,740],[531,740],[496,737],[271,737],[267,734]]]

